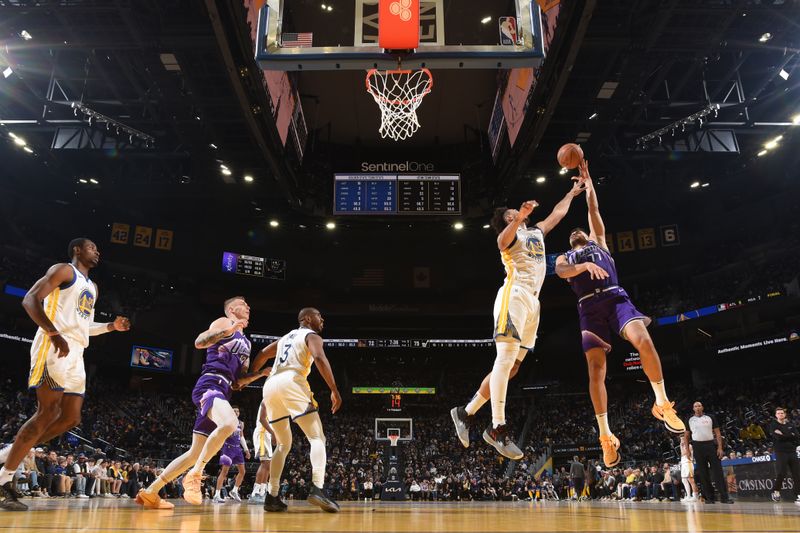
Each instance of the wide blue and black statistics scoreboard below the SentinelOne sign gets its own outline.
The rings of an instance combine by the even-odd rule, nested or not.
[[[336,174],[337,215],[458,215],[459,174]]]

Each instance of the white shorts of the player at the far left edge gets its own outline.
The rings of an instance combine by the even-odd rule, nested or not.
[[[56,355],[50,337],[38,330],[31,346],[31,371],[28,388],[38,389],[43,383],[64,394],[83,396],[86,392],[86,369],[83,366],[83,345],[64,337],[69,345],[66,357]]]

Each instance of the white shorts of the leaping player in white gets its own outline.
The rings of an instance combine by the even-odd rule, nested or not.
[[[497,342],[519,341],[521,348],[532,350],[536,344],[541,306],[534,292],[525,287],[506,283],[497,291],[494,300],[494,338]],[[519,360],[525,358],[520,350]]]

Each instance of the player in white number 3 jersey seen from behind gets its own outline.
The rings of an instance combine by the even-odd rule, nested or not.
[[[299,328],[262,350],[268,359],[275,357],[272,373],[264,383],[264,406],[277,443],[270,465],[269,492],[265,497],[264,510],[286,510],[286,504],[281,502],[278,491],[283,465],[292,448],[292,428],[289,422],[294,422],[300,426],[311,444],[312,486],[308,501],[324,511],[335,513],[339,511],[339,505],[323,492],[327,460],[325,434],[322,431],[317,402],[306,379],[311,372],[312,363],[331,389],[331,413],[339,410],[342,397],[319,335],[325,322],[322,315],[318,310],[307,307],[300,311],[297,319],[300,322]]]

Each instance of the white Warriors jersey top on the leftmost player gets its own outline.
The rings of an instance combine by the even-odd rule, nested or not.
[[[57,287],[44,299],[44,312],[63,337],[84,348],[89,346],[89,326],[94,322],[97,289],[94,283],[72,267],[72,282]]]

